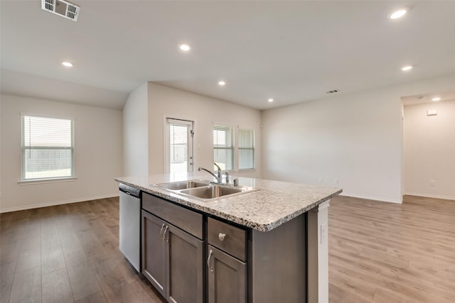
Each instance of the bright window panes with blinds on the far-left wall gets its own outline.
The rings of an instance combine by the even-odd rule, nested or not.
[[[22,180],[74,177],[74,122],[21,116]]]

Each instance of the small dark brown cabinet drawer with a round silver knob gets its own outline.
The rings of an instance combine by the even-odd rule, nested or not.
[[[207,238],[209,244],[242,261],[247,260],[247,231],[245,229],[208,218]]]

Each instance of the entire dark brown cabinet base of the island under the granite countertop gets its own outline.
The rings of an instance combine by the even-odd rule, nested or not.
[[[169,303],[319,302],[306,214],[262,232],[143,192],[141,217],[142,273]]]

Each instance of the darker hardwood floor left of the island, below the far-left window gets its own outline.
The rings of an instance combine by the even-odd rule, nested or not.
[[[164,302],[118,249],[118,198],[1,214],[0,224],[1,303]]]

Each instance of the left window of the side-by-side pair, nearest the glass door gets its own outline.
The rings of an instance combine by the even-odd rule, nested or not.
[[[234,129],[229,126],[213,126],[213,161],[222,170],[234,169]]]

